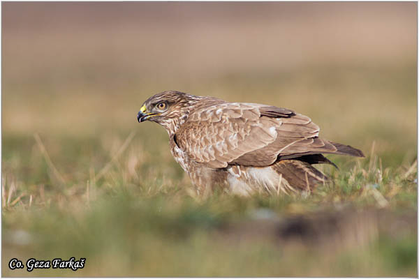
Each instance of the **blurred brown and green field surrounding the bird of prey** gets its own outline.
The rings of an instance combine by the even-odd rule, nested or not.
[[[2,3],[2,276],[417,276],[417,3]],[[193,194],[142,102],[287,107],[366,158]],[[78,271],[16,257],[86,258]]]

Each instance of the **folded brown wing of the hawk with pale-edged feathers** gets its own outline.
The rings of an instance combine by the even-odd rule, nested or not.
[[[339,153],[332,142],[318,138],[318,131],[309,117],[293,110],[223,103],[190,114],[177,131],[176,142],[189,158],[210,167],[266,166],[278,156]]]

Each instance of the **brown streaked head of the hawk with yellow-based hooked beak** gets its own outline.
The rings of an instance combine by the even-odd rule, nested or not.
[[[215,100],[210,97],[193,96],[179,91],[164,91],[148,98],[138,112],[138,122],[146,120],[159,123],[168,133],[175,133],[192,110],[202,107],[207,102]],[[218,99],[217,99],[218,100]]]

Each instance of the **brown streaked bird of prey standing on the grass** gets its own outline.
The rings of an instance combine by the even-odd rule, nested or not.
[[[172,156],[200,194],[311,191],[328,180],[312,165],[335,165],[323,153],[364,157],[318,137],[309,117],[272,105],[164,91],[145,101],[137,119],[166,128]]]

